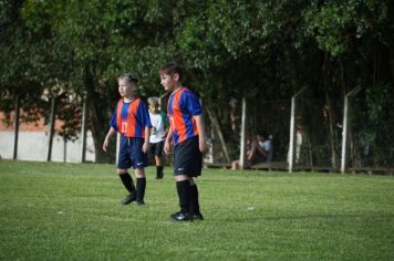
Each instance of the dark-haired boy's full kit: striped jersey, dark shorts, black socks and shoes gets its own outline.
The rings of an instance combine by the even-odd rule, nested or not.
[[[169,96],[167,109],[174,143],[174,175],[191,178],[176,182],[180,211],[173,213],[170,218],[175,221],[203,220],[198,188],[193,180],[193,177],[201,175],[203,167],[194,118],[203,113],[201,105],[190,90],[182,87]]]

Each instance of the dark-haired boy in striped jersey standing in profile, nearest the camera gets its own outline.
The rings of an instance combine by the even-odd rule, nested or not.
[[[203,220],[199,211],[198,189],[194,177],[201,175],[203,153],[206,150],[201,105],[196,96],[182,84],[182,67],[168,63],[160,71],[160,83],[172,94],[168,100],[170,128],[164,145],[169,154],[174,144],[174,176],[180,211],[170,215],[174,221]]]

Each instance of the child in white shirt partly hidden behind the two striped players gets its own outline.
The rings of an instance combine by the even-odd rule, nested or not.
[[[156,179],[160,179],[164,176],[163,173],[163,146],[164,139],[167,134],[168,128],[168,121],[166,114],[158,109],[158,98],[157,97],[149,97],[149,117],[152,123],[151,129],[151,155],[155,156],[155,164],[156,164]]]

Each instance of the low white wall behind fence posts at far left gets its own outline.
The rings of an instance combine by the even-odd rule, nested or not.
[[[18,142],[18,159],[45,161],[48,156],[48,133],[20,132]],[[65,160],[68,163],[81,163],[81,139],[68,140]],[[13,132],[0,132],[0,156],[12,159]],[[92,133],[86,133],[86,161],[94,161],[94,145]],[[53,136],[52,161],[64,160],[64,142],[59,135]]]

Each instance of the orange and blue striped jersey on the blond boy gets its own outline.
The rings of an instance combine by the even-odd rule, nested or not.
[[[144,138],[145,127],[152,127],[147,106],[141,98],[135,98],[129,103],[121,98],[110,125],[122,135],[134,138]]]

